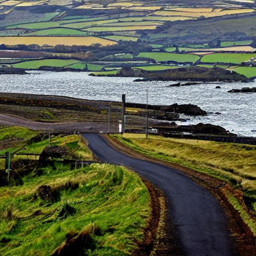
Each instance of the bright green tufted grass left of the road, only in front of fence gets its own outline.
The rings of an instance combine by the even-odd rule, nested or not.
[[[75,170],[56,164],[41,172],[24,176],[23,185],[0,187],[0,240],[7,241],[0,245],[1,255],[51,255],[67,233],[79,233],[94,223],[102,235],[92,235],[96,248],[89,254],[85,250],[84,255],[130,255],[135,240],[143,237],[150,212],[147,189],[135,173],[108,164]],[[33,197],[42,184],[59,187],[68,181],[78,187],[59,189],[53,202]],[[61,218],[58,215],[66,204],[75,213]],[[12,219],[4,218],[6,209]]]

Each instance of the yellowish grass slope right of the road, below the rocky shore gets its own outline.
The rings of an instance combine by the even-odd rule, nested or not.
[[[115,136],[125,145],[151,157],[174,162],[256,190],[256,146],[214,141],[164,138],[141,134]]]

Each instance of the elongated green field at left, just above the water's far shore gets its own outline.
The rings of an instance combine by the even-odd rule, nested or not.
[[[38,69],[40,66],[55,66],[55,67],[63,67],[68,66],[74,63],[77,63],[78,60],[75,59],[40,59],[40,60],[30,60],[19,62],[13,64],[13,67],[16,68],[24,68],[24,69]]]

